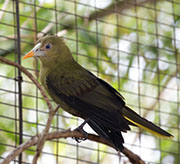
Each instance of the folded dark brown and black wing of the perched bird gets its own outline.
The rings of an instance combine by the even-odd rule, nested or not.
[[[117,131],[130,130],[128,121],[122,116],[125,105],[122,96],[103,80],[90,72],[82,74],[78,80],[70,79],[65,83],[53,83],[51,79],[46,79],[48,89],[84,118]]]

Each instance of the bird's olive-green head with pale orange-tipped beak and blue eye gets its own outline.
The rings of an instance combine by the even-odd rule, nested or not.
[[[30,57],[39,58],[42,64],[50,64],[57,61],[65,62],[73,59],[63,39],[52,35],[41,38],[34,48],[23,57],[23,59]]]

